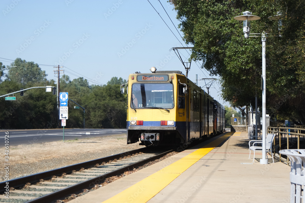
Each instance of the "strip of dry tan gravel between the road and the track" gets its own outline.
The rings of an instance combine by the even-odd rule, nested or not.
[[[9,180],[142,147],[139,142],[127,145],[126,134],[15,145],[9,148]],[[0,182],[4,177],[0,170]]]

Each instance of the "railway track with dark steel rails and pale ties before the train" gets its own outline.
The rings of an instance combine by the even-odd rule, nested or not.
[[[2,195],[0,203],[63,202],[61,200],[67,197],[99,187],[108,177],[133,170],[173,151],[142,148],[9,180],[9,198]],[[1,194],[5,185],[5,182],[0,183]]]

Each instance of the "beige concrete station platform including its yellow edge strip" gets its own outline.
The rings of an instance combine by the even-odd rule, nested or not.
[[[70,202],[290,202],[290,166],[252,163],[248,142],[223,133]]]

